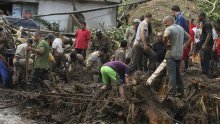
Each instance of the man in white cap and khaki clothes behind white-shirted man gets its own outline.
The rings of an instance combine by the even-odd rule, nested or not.
[[[128,49],[127,49],[126,58],[132,57],[132,46],[134,44],[135,35],[136,35],[137,28],[138,28],[138,25],[140,24],[140,22],[141,21],[139,19],[135,19],[132,26],[126,30],[126,33],[124,35],[124,40],[126,40],[128,42]]]

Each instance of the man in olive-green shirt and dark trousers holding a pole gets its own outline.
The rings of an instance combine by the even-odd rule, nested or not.
[[[41,33],[36,32],[34,34],[36,42],[36,48],[27,47],[28,51],[32,51],[35,54],[34,69],[32,71],[32,85],[34,89],[42,88],[44,80],[48,80],[49,69],[49,44],[45,40],[41,39]]]

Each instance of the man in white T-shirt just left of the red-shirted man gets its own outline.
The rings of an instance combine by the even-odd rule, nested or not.
[[[52,43],[52,54],[55,57],[56,60],[56,67],[61,67],[64,54],[63,54],[63,40],[64,36],[63,34],[60,34],[58,38],[56,38]]]

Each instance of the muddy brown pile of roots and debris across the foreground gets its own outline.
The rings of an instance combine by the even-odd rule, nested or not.
[[[218,73],[220,77],[220,73]],[[146,85],[143,72],[136,72],[125,86],[126,99],[113,86],[82,77],[70,83],[53,82],[51,91],[1,89],[16,98],[21,115],[47,123],[219,123],[220,78],[203,76],[193,66],[183,75],[185,95],[170,97],[168,79],[163,76],[154,85]],[[16,97],[15,97],[16,96]]]

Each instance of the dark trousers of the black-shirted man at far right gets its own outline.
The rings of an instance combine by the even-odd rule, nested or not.
[[[209,75],[209,65],[211,60],[211,50],[200,50],[202,73]]]

